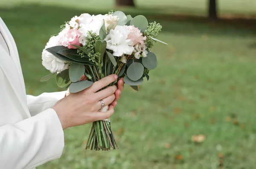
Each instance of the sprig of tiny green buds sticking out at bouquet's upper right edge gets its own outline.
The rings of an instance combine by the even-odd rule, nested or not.
[[[162,26],[160,25],[160,23],[152,22],[149,23],[148,28],[143,32],[143,36],[147,37],[147,39],[145,40],[145,45],[147,46],[148,51],[151,50],[155,42],[150,37],[156,38],[161,29]]]

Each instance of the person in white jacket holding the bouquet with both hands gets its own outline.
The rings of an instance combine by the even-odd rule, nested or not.
[[[26,95],[17,47],[0,17],[0,169],[33,169],[60,158],[64,129],[113,115],[123,79],[118,89],[100,89],[116,79],[116,75],[104,77],[68,96],[66,91]],[[98,111],[100,100],[111,104],[107,112]]]

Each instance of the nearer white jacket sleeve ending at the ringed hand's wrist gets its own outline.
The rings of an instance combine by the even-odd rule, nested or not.
[[[59,158],[64,132],[53,109],[0,127],[0,169],[30,169]]]

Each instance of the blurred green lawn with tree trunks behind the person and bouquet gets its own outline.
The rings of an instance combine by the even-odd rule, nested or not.
[[[125,87],[111,118],[119,150],[85,150],[91,124],[65,130],[60,159],[38,169],[255,169],[256,0],[0,0],[31,95],[61,91],[41,52],[81,13],[145,15],[163,26],[158,67]],[[54,130],[54,129],[53,129]]]

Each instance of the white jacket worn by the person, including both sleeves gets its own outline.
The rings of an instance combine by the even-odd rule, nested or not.
[[[32,169],[59,158],[64,133],[51,107],[65,92],[26,95],[15,41],[0,18],[0,169]],[[40,57],[40,56],[38,56]]]

